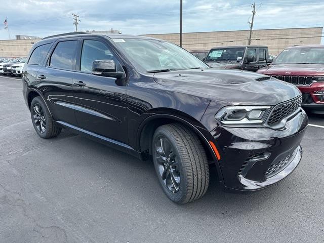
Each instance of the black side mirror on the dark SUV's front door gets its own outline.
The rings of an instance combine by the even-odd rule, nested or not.
[[[92,74],[104,77],[121,78],[124,72],[116,70],[116,64],[113,60],[96,60],[92,63]]]

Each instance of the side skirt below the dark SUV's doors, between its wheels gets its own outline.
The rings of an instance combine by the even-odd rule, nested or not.
[[[55,123],[57,125],[59,125],[59,126],[62,126],[64,128],[72,130],[76,134],[85,136],[85,137],[87,137],[87,138],[89,138],[89,139],[91,139],[93,141],[102,143],[104,145],[107,145],[107,146],[109,146],[111,148],[114,148],[114,149],[117,149],[119,151],[126,152],[126,153],[128,153],[130,155],[133,155],[133,156],[135,156],[135,157],[137,157],[137,158],[139,158],[141,160],[143,159],[142,154],[140,152],[134,150],[131,146],[129,146],[129,145],[125,144],[125,143],[121,143],[121,142],[118,142],[116,140],[113,140],[113,139],[98,135],[96,133],[90,132],[88,130],[73,126],[73,125],[71,125],[69,123],[65,123],[64,121],[55,121]]]

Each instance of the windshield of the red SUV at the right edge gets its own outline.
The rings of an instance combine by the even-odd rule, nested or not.
[[[273,64],[284,63],[324,64],[324,48],[286,49],[276,57]]]

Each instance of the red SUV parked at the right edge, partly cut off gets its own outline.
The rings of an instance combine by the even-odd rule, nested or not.
[[[258,72],[296,85],[302,92],[302,107],[324,114],[324,45],[287,48]]]

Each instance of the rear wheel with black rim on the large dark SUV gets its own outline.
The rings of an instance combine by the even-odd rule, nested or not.
[[[59,135],[62,128],[53,120],[44,100],[36,96],[30,104],[30,116],[34,129],[41,138],[53,138]]]

